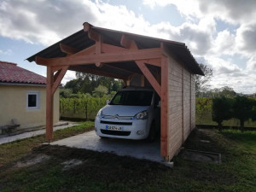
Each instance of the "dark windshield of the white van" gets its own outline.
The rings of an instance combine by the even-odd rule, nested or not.
[[[152,96],[152,90],[121,90],[113,96],[109,105],[150,106]]]

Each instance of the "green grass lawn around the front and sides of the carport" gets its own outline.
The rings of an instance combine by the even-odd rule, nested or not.
[[[77,134],[77,129],[81,130],[70,128],[68,134]],[[55,132],[55,139],[58,134],[67,137]],[[184,147],[221,153],[222,163],[183,160],[177,155],[172,169],[147,160],[40,143],[44,137],[0,146],[0,191],[256,191],[256,131],[195,130]],[[16,149],[20,145],[26,148],[22,155]],[[42,155],[49,159],[17,166]],[[68,160],[80,164],[65,169],[63,162]]]

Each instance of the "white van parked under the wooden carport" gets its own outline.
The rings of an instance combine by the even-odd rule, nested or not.
[[[160,131],[160,97],[148,88],[119,90],[97,113],[95,131],[99,137],[154,141]]]

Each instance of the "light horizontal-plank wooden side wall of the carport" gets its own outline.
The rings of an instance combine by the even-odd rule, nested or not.
[[[172,55],[169,55],[168,75],[167,150],[171,160],[195,128],[195,79]]]

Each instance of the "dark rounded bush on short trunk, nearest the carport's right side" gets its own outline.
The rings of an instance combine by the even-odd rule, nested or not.
[[[218,130],[222,131],[222,122],[232,116],[232,102],[226,97],[212,99],[212,120],[218,123]]]

